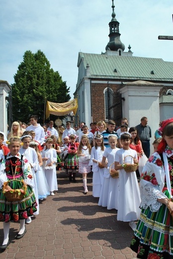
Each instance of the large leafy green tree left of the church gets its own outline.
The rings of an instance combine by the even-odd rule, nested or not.
[[[41,50],[36,53],[27,50],[12,84],[13,121],[28,122],[31,115],[38,115],[39,122],[43,123],[45,99],[54,103],[68,102],[69,89],[60,74],[50,68]]]

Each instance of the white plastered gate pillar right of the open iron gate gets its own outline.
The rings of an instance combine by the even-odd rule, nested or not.
[[[129,127],[135,127],[141,123],[142,117],[148,118],[148,125],[152,130],[150,138],[151,153],[153,152],[154,133],[159,128],[160,109],[159,91],[162,87],[151,86],[124,86],[120,89],[123,102],[123,117],[129,121]]]

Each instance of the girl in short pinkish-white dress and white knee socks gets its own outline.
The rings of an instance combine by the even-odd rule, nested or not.
[[[81,142],[78,147],[77,156],[79,156],[79,173],[83,174],[83,186],[84,186],[84,193],[86,194],[88,192],[87,185],[86,185],[86,175],[90,172],[90,165],[89,165],[89,159],[90,159],[90,153],[91,153],[91,146],[89,144],[87,135],[82,135]]]

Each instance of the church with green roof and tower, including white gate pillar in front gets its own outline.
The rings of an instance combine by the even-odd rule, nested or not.
[[[124,51],[114,0],[111,7],[105,53],[79,52],[75,123],[82,121],[89,126],[91,122],[113,119],[119,125],[126,117],[133,127],[146,116],[156,130],[160,120],[173,117],[173,62],[135,57],[130,45]]]

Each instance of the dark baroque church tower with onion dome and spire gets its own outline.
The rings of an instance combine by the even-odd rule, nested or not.
[[[112,0],[112,19],[109,22],[109,42],[106,46],[106,50],[112,50],[112,51],[118,51],[118,49],[121,49],[124,51],[125,46],[120,40],[120,33],[119,33],[119,22],[115,18],[116,14],[114,12],[114,0]]]

